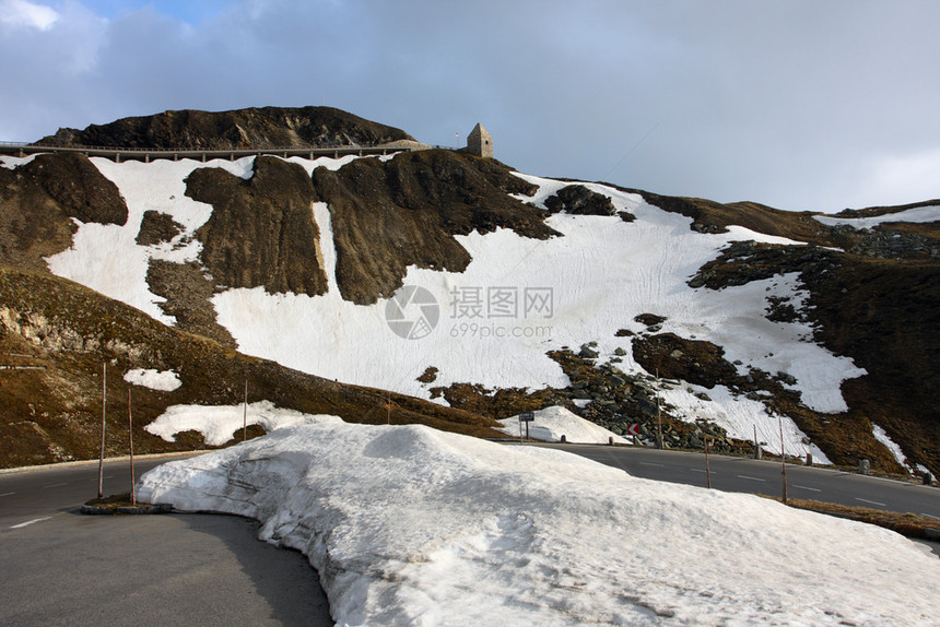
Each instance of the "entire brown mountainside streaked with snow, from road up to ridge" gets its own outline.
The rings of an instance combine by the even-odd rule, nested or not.
[[[308,107],[167,111],[43,141],[52,140],[265,147],[411,138]],[[142,422],[176,404],[236,404],[246,378],[279,406],[385,417],[383,392],[331,382],[339,378],[399,392],[398,421],[478,435],[491,418],[561,404],[615,431],[641,423],[647,440],[661,412],[670,446],[709,436],[748,451],[753,425],[773,450],[783,416],[789,454],[937,473],[938,205],[819,216],[537,179],[446,150],[209,164],[7,157],[0,345],[9,365],[45,369],[0,379],[3,465],[94,454],[107,362],[116,387],[129,368],[184,380],[174,392],[139,390]],[[401,300],[413,285],[436,306],[427,340],[386,324],[396,307],[415,311]],[[522,316],[530,293],[553,295],[556,311],[542,316],[553,335],[482,335],[539,332]],[[516,300],[484,315],[493,294]],[[834,370],[845,374],[820,376]],[[201,443],[192,434],[173,446],[139,441]]]

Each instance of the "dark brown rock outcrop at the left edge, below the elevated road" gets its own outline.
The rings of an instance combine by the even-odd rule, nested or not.
[[[16,169],[0,167],[0,263],[46,270],[43,258],[71,245],[73,217],[127,222],[117,186],[87,157],[44,154]]]

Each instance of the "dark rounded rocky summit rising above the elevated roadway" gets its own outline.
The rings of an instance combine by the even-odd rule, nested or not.
[[[59,129],[37,143],[115,147],[286,147],[375,145],[413,138],[332,107],[165,111],[84,130]]]

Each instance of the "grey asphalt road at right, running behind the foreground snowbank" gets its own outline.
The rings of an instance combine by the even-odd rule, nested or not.
[[[532,446],[551,446],[573,452],[619,468],[633,476],[702,487],[707,485],[704,453],[592,445]],[[708,456],[708,468],[715,489],[768,496],[783,494],[779,462]],[[937,487],[787,464],[787,495],[853,507],[912,512],[936,518],[940,524],[940,489]]]

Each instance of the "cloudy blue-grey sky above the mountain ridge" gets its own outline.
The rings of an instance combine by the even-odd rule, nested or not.
[[[834,212],[940,198],[933,0],[0,0],[0,140],[321,105],[522,171]]]

